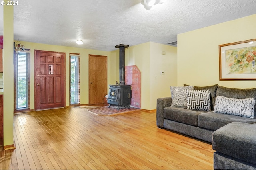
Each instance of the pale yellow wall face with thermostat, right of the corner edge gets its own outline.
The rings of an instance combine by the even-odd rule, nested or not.
[[[166,54],[163,55],[162,51]],[[170,86],[177,86],[177,48],[151,42],[150,110],[156,109],[158,98],[171,95]]]

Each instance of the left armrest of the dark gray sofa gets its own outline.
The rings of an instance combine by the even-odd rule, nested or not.
[[[164,108],[170,107],[172,103],[172,97],[158,98],[156,100],[156,125],[159,128],[164,127]]]

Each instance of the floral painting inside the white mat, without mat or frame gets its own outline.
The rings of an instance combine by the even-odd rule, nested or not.
[[[255,74],[256,46],[226,50],[226,74]]]

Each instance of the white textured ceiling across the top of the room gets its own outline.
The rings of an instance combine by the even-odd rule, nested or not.
[[[256,14],[255,0],[163,1],[146,10],[141,0],[20,0],[14,39],[112,51],[118,44],[167,44],[177,34]]]

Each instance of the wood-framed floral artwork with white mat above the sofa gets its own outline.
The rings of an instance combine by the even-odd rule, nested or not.
[[[256,39],[219,45],[220,80],[256,80]]]

